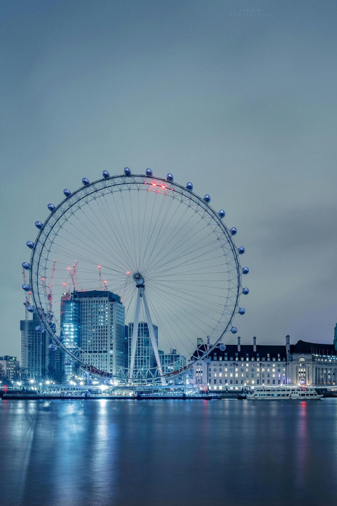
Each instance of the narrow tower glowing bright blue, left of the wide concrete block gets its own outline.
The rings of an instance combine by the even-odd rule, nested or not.
[[[62,343],[73,353],[80,346],[80,302],[71,299],[68,294],[61,297],[60,326]],[[77,373],[77,363],[70,356],[65,356],[63,368],[65,382],[68,383]]]

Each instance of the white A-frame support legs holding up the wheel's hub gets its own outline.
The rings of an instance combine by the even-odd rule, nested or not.
[[[149,307],[148,307],[147,300],[146,300],[144,286],[137,286],[134,328],[133,328],[132,340],[131,340],[131,362],[130,362],[129,382],[130,383],[132,382],[132,375],[133,375],[134,367],[135,367],[135,356],[136,356],[136,348],[137,348],[137,341],[138,341],[138,324],[139,324],[140,306],[141,306],[142,299],[143,299],[143,304],[144,304],[144,309],[145,309],[146,322],[147,322],[147,326],[148,326],[149,332],[150,332],[152,348],[154,351],[154,356],[156,358],[158,372],[160,375],[160,381],[161,381],[162,385],[166,385],[166,381],[163,376],[163,372],[162,372],[162,368],[161,368],[157,340],[156,340],[156,336],[154,333],[151,315],[150,315]]]

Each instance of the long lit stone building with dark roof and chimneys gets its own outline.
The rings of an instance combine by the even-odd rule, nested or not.
[[[337,327],[337,325],[336,325]],[[335,328],[336,334],[336,328]],[[334,340],[337,342],[337,340]],[[207,359],[200,360],[207,344],[197,347],[191,362],[189,384],[199,390],[221,391],[254,389],[260,385],[333,386],[337,383],[337,350],[333,344],[298,341],[290,345],[226,345],[225,350],[215,348]]]

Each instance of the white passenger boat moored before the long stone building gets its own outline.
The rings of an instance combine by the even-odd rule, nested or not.
[[[309,401],[321,399],[312,387],[258,387],[247,394],[247,400],[276,401],[299,400]]]

